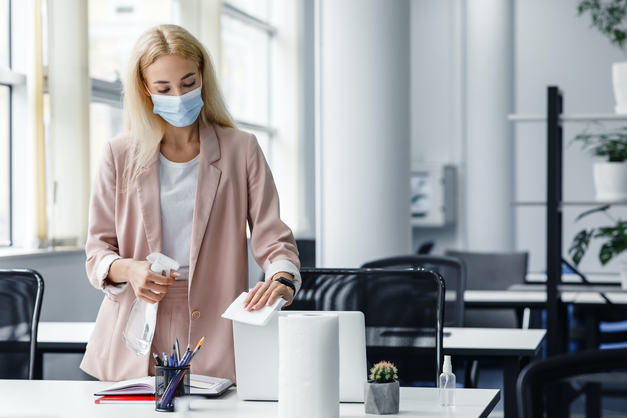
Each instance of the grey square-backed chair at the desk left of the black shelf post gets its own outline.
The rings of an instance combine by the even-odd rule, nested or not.
[[[463,260],[466,265],[467,290],[507,290],[522,284],[527,276],[526,252],[480,253],[447,250],[448,257]],[[470,328],[520,328],[515,309],[465,309],[464,326]]]

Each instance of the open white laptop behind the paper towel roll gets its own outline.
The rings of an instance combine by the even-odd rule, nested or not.
[[[233,321],[237,395],[243,400],[278,400],[278,363],[268,368],[268,353],[278,357],[278,317],[310,311],[278,311],[265,326]],[[366,326],[361,312],[339,316],[340,402],[364,402],[367,379]],[[271,360],[270,360],[271,361]]]

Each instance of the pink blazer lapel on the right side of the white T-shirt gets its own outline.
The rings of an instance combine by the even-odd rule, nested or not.
[[[218,191],[221,171],[212,165],[220,158],[218,136],[212,125],[200,126],[200,154],[198,161],[198,181],[194,199],[194,219],[192,221],[192,242],[189,251],[189,282],[195,276],[196,262],[203,244],[204,233],[209,222],[209,214]]]

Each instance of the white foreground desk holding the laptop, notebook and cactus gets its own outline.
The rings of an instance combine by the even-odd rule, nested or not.
[[[154,405],[97,405],[93,396],[111,382],[80,382],[58,380],[0,380],[3,417],[59,417],[59,418],[143,418],[164,417]],[[484,418],[497,404],[497,389],[457,389],[457,405],[441,407],[438,389],[401,388],[399,415],[406,417]],[[276,417],[278,402],[240,400],[236,390],[217,399],[192,402],[186,417]],[[167,415],[166,415],[167,416]],[[182,414],[172,414],[181,417]],[[366,415],[364,404],[340,404],[340,417],[373,417]],[[294,417],[297,418],[297,417]]]

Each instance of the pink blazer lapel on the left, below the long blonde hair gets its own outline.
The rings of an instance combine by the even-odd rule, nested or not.
[[[159,148],[137,174],[137,196],[150,252],[161,252],[161,201],[159,199]]]

